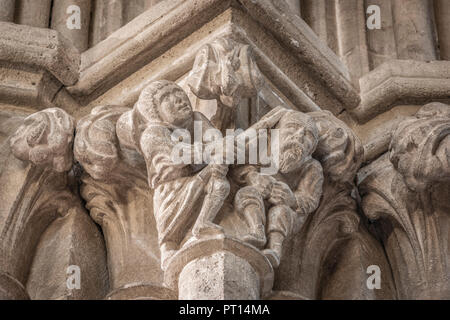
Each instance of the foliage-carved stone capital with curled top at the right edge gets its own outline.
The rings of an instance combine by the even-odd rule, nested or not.
[[[361,206],[374,221],[402,299],[448,298],[449,106],[402,121],[389,154],[360,172]]]

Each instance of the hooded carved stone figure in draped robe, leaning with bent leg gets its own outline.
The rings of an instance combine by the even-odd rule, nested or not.
[[[170,81],[155,81],[117,123],[121,145],[138,149],[147,164],[163,269],[195,220],[193,213],[199,203],[193,235],[221,232],[213,220],[230,190],[226,165],[210,164],[196,173],[193,165],[173,161],[172,152],[181,142],[173,141],[172,133],[185,129],[193,137],[194,121],[200,121],[205,130],[212,128],[206,117],[192,110],[182,88]],[[202,145],[185,144],[183,149],[194,155],[201,152]]]

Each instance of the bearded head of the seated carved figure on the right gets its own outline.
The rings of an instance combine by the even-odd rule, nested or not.
[[[287,112],[278,122],[280,130],[280,171],[300,168],[317,147],[318,130],[311,117],[298,111]]]

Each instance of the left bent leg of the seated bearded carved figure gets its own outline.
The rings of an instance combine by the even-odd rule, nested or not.
[[[261,249],[267,242],[266,212],[261,194],[254,187],[244,187],[238,191],[234,202],[237,211],[244,217],[250,230],[243,240]]]

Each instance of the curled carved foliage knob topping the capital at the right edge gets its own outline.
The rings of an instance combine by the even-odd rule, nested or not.
[[[390,161],[413,191],[448,181],[450,106],[430,103],[402,121],[392,137]]]

